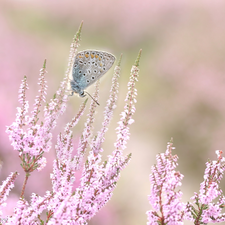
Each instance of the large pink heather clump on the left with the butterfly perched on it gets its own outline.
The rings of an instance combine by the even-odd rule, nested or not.
[[[89,113],[79,144],[74,154],[72,128],[76,126],[87,107],[87,99],[81,104],[77,114],[72,118],[64,130],[58,135],[55,145],[56,158],[51,173],[52,190],[47,190],[44,196],[35,193],[30,200],[26,200],[24,193],[29,177],[35,170],[41,171],[47,163],[45,154],[52,150],[52,130],[58,119],[66,111],[68,93],[67,85],[72,63],[79,46],[82,24],[75,35],[66,70],[65,78],[54,98],[45,103],[47,95],[46,61],[39,75],[39,95],[35,99],[34,109],[29,113],[29,103],[26,100],[28,89],[27,78],[24,77],[19,89],[20,107],[17,108],[16,120],[7,127],[7,134],[13,149],[18,152],[21,166],[25,172],[20,198],[10,216],[2,213],[6,207],[6,199],[14,187],[17,172],[13,172],[3,181],[0,187],[0,216],[1,224],[87,224],[88,221],[109,201],[123,168],[128,164],[131,154],[124,155],[129,139],[129,126],[134,122],[137,90],[135,83],[138,77],[138,66],[141,51],[131,69],[128,91],[125,99],[124,111],[118,122],[115,149],[108,159],[102,160],[102,143],[108,130],[113,111],[116,108],[118,95],[118,78],[120,76],[121,58],[114,69],[110,96],[104,111],[101,130],[93,135],[93,123],[99,95],[99,81],[95,85],[95,93],[90,103]],[[43,103],[46,105],[43,109]],[[43,119],[41,119],[43,118]],[[89,150],[89,151],[87,151]],[[87,155],[87,158],[85,157]],[[82,171],[78,187],[73,189],[78,171]],[[43,213],[46,217],[43,217]]]

